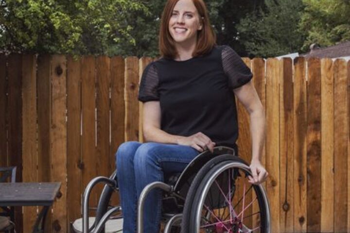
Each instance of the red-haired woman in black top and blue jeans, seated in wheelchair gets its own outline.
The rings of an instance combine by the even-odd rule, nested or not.
[[[124,223],[136,232],[137,201],[142,189],[163,181],[164,173],[181,172],[191,160],[214,146],[236,147],[234,95],[250,115],[253,177],[265,181],[260,163],[265,118],[250,82],[252,74],[228,46],[216,46],[203,0],[168,0],[161,19],[162,58],[149,64],[140,83],[146,143],[125,142],[116,154]],[[144,206],[144,232],[157,233],[161,192],[153,190]]]

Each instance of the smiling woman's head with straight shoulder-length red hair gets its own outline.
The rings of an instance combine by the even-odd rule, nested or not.
[[[175,29],[178,31],[176,32]],[[215,41],[216,35],[202,0],[169,0],[167,2],[159,31],[159,50],[163,57],[185,60],[189,57],[201,56],[212,50]],[[182,53],[185,54],[183,59],[179,58],[179,54]]]

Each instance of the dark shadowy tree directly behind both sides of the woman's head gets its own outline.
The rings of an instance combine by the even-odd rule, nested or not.
[[[137,38],[136,44],[131,45],[123,41],[112,45],[110,49],[123,55],[159,56],[159,25],[165,2],[165,0],[143,0],[151,14],[146,16],[141,12],[134,12],[128,16],[134,19],[128,21],[132,28],[130,34]],[[262,5],[263,0],[206,0],[205,2],[209,10],[210,22],[217,34],[217,43],[230,45],[240,55],[246,55],[236,25],[247,13]]]

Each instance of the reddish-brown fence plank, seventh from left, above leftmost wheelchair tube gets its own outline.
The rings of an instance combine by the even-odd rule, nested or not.
[[[82,79],[82,160],[83,160],[83,190],[96,177],[96,148],[95,148],[95,58],[85,56],[81,65]],[[89,206],[97,204],[96,191],[90,194]]]

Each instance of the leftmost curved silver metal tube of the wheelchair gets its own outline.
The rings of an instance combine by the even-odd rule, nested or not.
[[[92,188],[97,184],[97,183],[106,183],[108,186],[110,186],[111,188],[116,188],[117,187],[117,181],[114,179],[109,179],[107,177],[104,176],[99,176],[99,177],[95,177],[94,179],[92,179],[84,192],[84,196],[83,196],[83,233],[88,233],[88,200],[90,197],[90,193]]]

